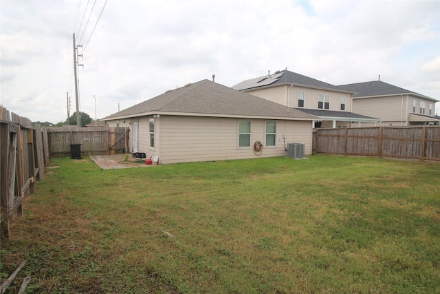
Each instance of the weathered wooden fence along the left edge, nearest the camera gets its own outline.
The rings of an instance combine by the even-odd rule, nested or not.
[[[35,189],[35,180],[44,176],[49,163],[47,133],[39,125],[32,128],[28,118],[10,114],[0,106],[0,231],[10,235],[14,215],[23,214],[23,204]]]

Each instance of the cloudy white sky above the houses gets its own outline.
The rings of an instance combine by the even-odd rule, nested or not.
[[[232,86],[285,68],[440,100],[440,1],[0,0],[0,19],[0,104],[32,121],[65,120],[67,92],[76,111],[74,33],[92,118],[94,96],[99,119],[212,74]]]

